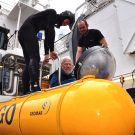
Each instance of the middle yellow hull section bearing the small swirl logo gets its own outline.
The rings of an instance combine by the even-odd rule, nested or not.
[[[69,85],[57,90],[42,91],[27,100],[20,118],[23,135],[60,135],[59,104],[62,94],[68,88]]]

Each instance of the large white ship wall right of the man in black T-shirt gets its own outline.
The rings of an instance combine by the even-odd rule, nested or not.
[[[135,6],[126,4],[127,10],[132,11],[129,11],[127,14],[127,10],[121,5],[124,3],[123,1],[124,0],[116,0],[114,3],[87,19],[89,28],[99,29],[108,42],[109,49],[116,59],[115,76],[132,72],[135,69],[135,55],[123,53],[127,41],[129,41],[132,33],[135,32],[135,14],[132,14],[133,10],[135,10]],[[119,6],[121,6],[121,8],[118,11],[117,7]],[[125,4],[123,4],[123,6],[125,6]],[[119,13],[121,13],[121,16]],[[126,22],[124,20],[126,20]]]

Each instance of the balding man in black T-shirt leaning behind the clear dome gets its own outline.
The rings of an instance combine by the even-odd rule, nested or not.
[[[88,29],[88,26],[89,25],[86,20],[81,20],[78,23],[78,29],[81,36],[77,47],[76,62],[82,55],[84,49],[93,46],[108,46],[103,34],[97,29]]]

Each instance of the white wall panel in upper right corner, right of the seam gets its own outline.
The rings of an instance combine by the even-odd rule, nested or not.
[[[135,1],[117,0],[116,9],[119,18],[123,51],[125,53],[133,52],[135,51]],[[132,41],[130,42],[131,39]]]

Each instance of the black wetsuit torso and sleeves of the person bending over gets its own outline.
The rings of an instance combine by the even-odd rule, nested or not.
[[[24,35],[29,33],[29,29],[37,35],[40,30],[45,31],[44,48],[45,54],[54,51],[55,27],[62,25],[63,18],[54,9],[47,9],[28,17],[21,26],[19,33]]]

